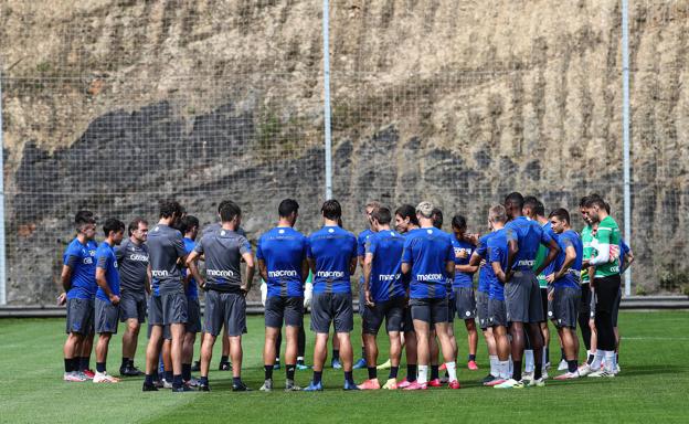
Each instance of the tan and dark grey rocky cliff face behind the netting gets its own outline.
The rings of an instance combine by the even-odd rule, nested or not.
[[[210,222],[255,239],[294,197],[324,197],[320,1],[6,1],[0,6],[9,300],[51,301],[71,216]],[[617,1],[333,1],[335,194],[431,200],[485,231],[519,190],[548,209],[606,197],[622,225]],[[459,4],[458,4],[459,3]],[[688,252],[688,7],[630,10],[634,282]],[[577,221],[577,226],[580,222]],[[446,230],[449,230],[446,224]]]

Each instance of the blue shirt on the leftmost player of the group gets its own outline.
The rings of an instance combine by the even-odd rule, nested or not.
[[[67,299],[93,299],[96,296],[96,251],[98,245],[93,240],[82,244],[78,239],[67,245],[63,264],[72,268],[72,282]]]

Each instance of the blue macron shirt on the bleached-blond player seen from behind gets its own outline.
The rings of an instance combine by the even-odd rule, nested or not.
[[[447,233],[418,229],[406,236],[402,262],[411,265],[410,297],[414,299],[447,296],[446,263],[455,262],[455,252]]]

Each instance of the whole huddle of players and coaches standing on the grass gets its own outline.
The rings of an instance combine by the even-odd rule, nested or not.
[[[621,274],[633,255],[600,195],[580,202],[586,223],[581,234],[572,230],[565,209],[545,216],[540,201],[517,192],[489,209],[490,231],[483,236],[469,233],[462,215],[453,216],[452,233],[442,231],[443,212],[430,202],[405,204],[394,212],[370,202],[364,208],[369,229],[358,237],[342,227],[337,200],[322,204],[324,225],[308,236],[294,229],[298,210],[295,200],[283,200],[277,225],[258,239],[255,253],[241,229],[241,209],[232,201],[220,203],[220,222],[203,231],[199,220],[176,201],[161,202],[160,219],[150,231],[144,219],[132,220],[127,239],[125,224],[108,219],[100,244],[94,241],[93,213],[77,212],[77,235],[64,253],[61,276],[65,293],[60,303],[67,310],[64,380],[119,381],[108,374],[106,362],[109,341],[121,321],[126,328],[119,374],[145,374],[144,391],[210,391],[210,362],[221,333],[220,370],[232,370],[233,391],[248,391],[241,377],[242,336],[246,333],[245,297],[256,268],[265,307],[262,391],[274,389],[283,327],[286,391],[324,390],[331,327],[331,364],[343,370],[344,390],[426,390],[445,384],[459,389],[455,317],[467,329],[469,370],[478,370],[478,328],[483,331],[490,360],[490,371],[481,381],[486,386],[545,385],[548,320],[556,328],[561,346],[558,368],[563,373],[555,380],[619,372]],[[362,358],[354,362],[350,278],[359,266]],[[199,289],[204,293],[203,325]],[[308,368],[304,363],[307,308],[316,337],[312,378],[303,389],[295,382],[295,370]],[[148,346],[141,372],[134,357],[146,316]],[[383,321],[390,351],[378,365],[377,337]],[[586,348],[581,365],[577,325]],[[192,365],[198,333],[201,352]],[[402,354],[406,377],[399,379]],[[364,367],[368,379],[357,384],[352,370]],[[381,369],[389,369],[382,385]],[[192,378],[192,371],[200,377]]]

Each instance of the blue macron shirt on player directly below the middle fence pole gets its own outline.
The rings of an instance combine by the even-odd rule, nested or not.
[[[307,256],[316,262],[314,293],[351,293],[349,264],[357,257],[357,237],[326,225],[308,237]]]

